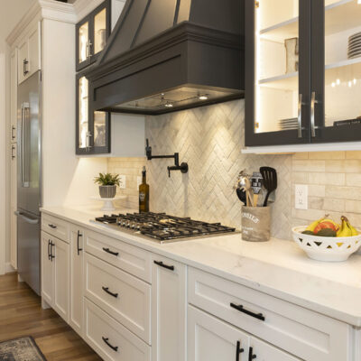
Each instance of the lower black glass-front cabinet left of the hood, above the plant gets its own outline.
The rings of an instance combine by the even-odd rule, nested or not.
[[[107,112],[89,112],[88,79],[77,76],[76,153],[110,153],[110,115]]]

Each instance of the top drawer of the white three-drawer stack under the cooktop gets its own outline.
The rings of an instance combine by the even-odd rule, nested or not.
[[[87,232],[85,244],[89,254],[151,283],[152,259],[149,252],[91,231]]]

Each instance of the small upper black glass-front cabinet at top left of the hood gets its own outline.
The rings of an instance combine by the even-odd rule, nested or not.
[[[76,26],[77,71],[97,60],[110,34],[110,0],[99,5]]]

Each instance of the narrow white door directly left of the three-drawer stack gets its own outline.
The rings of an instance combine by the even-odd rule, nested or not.
[[[83,273],[84,273],[84,229],[69,227],[70,244],[70,304],[69,325],[79,335],[83,331]]]

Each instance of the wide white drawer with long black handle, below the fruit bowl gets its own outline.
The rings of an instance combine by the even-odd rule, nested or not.
[[[348,359],[347,324],[194,268],[188,287],[191,304],[295,356]]]

